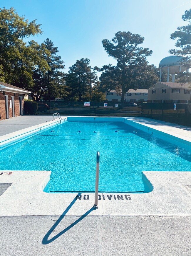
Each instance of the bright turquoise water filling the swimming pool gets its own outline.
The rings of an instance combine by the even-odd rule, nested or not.
[[[142,171],[191,167],[189,150],[125,123],[64,122],[2,149],[0,170],[51,170],[51,193],[94,191],[97,151],[100,192],[143,191]]]

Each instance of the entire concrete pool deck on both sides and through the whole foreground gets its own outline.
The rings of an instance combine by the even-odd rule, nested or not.
[[[0,121],[0,136],[52,117],[23,116],[15,128],[9,127],[13,119]],[[191,140],[188,127],[128,119]],[[100,193],[97,210],[92,208],[93,193],[76,198],[74,193],[43,192],[49,171],[1,175],[0,184],[11,185],[2,185],[6,190],[0,195],[0,255],[190,255],[191,172],[143,171],[154,186],[152,192],[123,197]]]

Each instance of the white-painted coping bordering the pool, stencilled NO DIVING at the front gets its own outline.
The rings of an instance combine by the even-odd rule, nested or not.
[[[83,118],[98,119],[107,117]],[[190,134],[184,130],[180,132],[180,129],[170,126],[170,128],[168,127],[169,130],[165,130],[165,122],[160,122],[161,125],[158,125],[158,122],[158,129],[155,129],[156,125],[153,120],[152,124],[146,123],[150,122],[148,118],[116,118],[123,118],[124,122],[129,124],[136,123],[138,127],[141,125],[141,129],[145,128],[150,132],[155,132],[156,135],[164,133],[163,136],[167,140],[175,137],[177,143],[189,145],[191,142],[190,131]],[[32,136],[57,124],[59,124],[59,120],[54,120],[9,133],[0,137],[0,145],[7,146],[9,143]],[[14,138],[11,138],[11,136],[14,136]],[[81,215],[85,214],[94,204],[94,193],[82,193],[76,196],[74,193],[52,194],[43,192],[49,181],[51,171],[12,172],[12,175],[2,175],[0,177],[0,184],[11,183],[11,186],[0,196],[0,216],[61,215],[66,208],[68,209],[66,215]],[[184,185],[191,184],[191,172],[157,172],[153,170],[153,172],[143,171],[143,176],[153,184],[154,190],[152,192],[144,194],[120,193],[120,195],[116,193],[110,193],[109,195],[108,193],[100,193],[99,208],[90,214],[190,216],[191,194]]]

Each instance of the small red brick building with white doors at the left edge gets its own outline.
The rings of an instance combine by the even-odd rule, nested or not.
[[[0,82],[0,120],[24,114],[24,95],[31,92]]]

